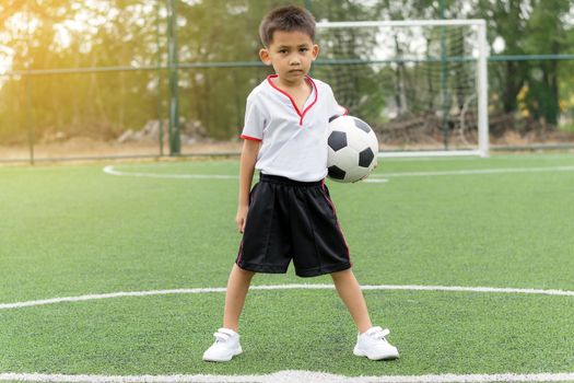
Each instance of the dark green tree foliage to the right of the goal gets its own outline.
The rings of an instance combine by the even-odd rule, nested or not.
[[[572,47],[572,30],[566,15],[570,1],[479,0],[476,16],[489,22],[489,37],[505,43],[502,55],[560,55]],[[570,48],[572,49],[572,48]],[[518,111],[518,94],[525,97],[529,115],[555,126],[560,115],[560,66],[557,60],[505,61],[495,67],[494,90],[499,92],[504,112]],[[565,85],[566,81],[563,81]]]

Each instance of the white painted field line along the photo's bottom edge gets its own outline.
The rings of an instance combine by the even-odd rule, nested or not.
[[[574,373],[536,374],[442,374],[383,375],[347,378],[313,371],[280,371],[266,375],[65,375],[39,373],[0,373],[0,381],[69,383],[485,383],[485,382],[567,382]]]

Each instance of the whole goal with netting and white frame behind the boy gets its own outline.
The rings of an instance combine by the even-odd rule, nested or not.
[[[317,24],[312,76],[370,123],[382,156],[488,156],[483,20]]]

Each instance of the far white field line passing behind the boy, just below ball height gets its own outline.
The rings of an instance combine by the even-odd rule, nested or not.
[[[441,176],[441,175],[479,175],[479,174],[511,174],[511,173],[540,173],[540,172],[574,172],[574,166],[546,166],[546,167],[505,167],[505,169],[469,169],[459,171],[441,171],[441,172],[400,172],[373,174],[366,182],[380,183],[378,181],[387,177],[421,177],[421,176]],[[148,178],[180,178],[180,179],[236,179],[236,175],[222,174],[157,174],[142,172],[122,172],[116,170],[113,165],[104,167],[104,173],[119,176],[148,177]]]

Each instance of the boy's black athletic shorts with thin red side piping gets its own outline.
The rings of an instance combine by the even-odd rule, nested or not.
[[[349,247],[323,181],[297,182],[261,174],[236,264],[255,272],[286,272],[291,259],[300,277],[351,267]]]

